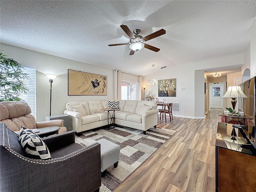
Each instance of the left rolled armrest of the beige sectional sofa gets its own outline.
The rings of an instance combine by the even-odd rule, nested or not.
[[[70,116],[70,128],[75,132],[82,132],[82,116],[80,113],[70,110],[65,110],[64,114]]]

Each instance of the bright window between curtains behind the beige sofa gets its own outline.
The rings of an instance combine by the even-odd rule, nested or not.
[[[139,83],[121,81],[122,100],[139,100]]]

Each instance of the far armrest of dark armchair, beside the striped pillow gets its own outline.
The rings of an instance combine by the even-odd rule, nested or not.
[[[50,152],[58,150],[60,148],[64,148],[75,142],[75,132],[68,131],[62,134],[55,134],[52,136],[48,136],[46,138],[42,138],[46,146],[48,147]]]

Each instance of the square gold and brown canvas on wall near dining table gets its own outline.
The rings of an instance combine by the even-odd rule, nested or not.
[[[158,80],[158,97],[176,97],[176,78]]]

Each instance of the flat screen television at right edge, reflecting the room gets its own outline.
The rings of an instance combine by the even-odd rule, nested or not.
[[[255,97],[255,90],[256,90],[256,76],[239,84],[242,92],[247,96],[247,98],[239,98],[238,96],[238,111],[244,112],[244,116],[248,116],[248,119],[244,121],[244,125],[240,125],[240,130],[243,132],[244,140],[251,144],[252,148],[256,149],[255,144],[255,135],[256,135],[256,124],[255,124],[255,111],[256,111],[256,97]],[[238,89],[239,90],[239,89]],[[239,94],[238,94],[239,95]],[[238,115],[238,122],[239,115]],[[249,143],[250,142],[250,143]],[[250,146],[248,147],[250,148]]]

